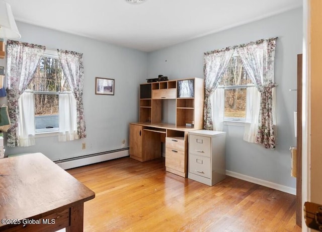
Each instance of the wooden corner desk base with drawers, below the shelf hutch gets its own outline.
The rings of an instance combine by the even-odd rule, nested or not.
[[[130,157],[140,162],[161,157],[166,143],[166,171],[188,175],[188,134],[196,128],[167,123],[130,123]]]

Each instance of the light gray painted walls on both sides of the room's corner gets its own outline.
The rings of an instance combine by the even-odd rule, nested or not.
[[[296,145],[293,111],[296,110],[296,55],[302,52],[302,9],[145,53],[97,40],[18,22],[21,41],[84,53],[84,110],[87,138],[58,142],[57,137],[36,139],[31,147],[6,147],[6,153],[43,152],[51,160],[121,148],[128,123],[138,120],[138,86],[158,74],[169,79],[203,78],[203,52],[277,36],[275,81],[277,91],[277,148],[266,150],[243,141],[244,127],[225,126],[226,168],[232,172],[295,188],[290,177],[289,147]],[[0,60],[5,66],[5,60]],[[95,95],[95,77],[115,79],[115,96]],[[0,99],[0,101],[2,101]],[[174,109],[173,102],[165,104]],[[165,112],[171,121],[175,112]],[[173,122],[174,123],[174,122]],[[82,150],[82,142],[87,149]]]

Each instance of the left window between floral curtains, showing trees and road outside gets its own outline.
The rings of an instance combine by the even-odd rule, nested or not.
[[[70,91],[56,51],[46,50],[28,90],[34,94],[35,132],[59,130],[59,93]]]

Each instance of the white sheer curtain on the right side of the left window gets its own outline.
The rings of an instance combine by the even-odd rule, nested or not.
[[[78,139],[76,101],[71,92],[59,94],[58,141]]]

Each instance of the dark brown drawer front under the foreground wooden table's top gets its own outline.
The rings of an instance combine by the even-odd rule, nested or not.
[[[26,223],[27,222],[27,223]],[[24,223],[26,225],[24,226]],[[16,227],[5,230],[6,232],[26,231],[26,232],[42,232],[57,231],[69,226],[69,208],[58,213],[50,214],[39,219],[23,219],[21,224]]]

